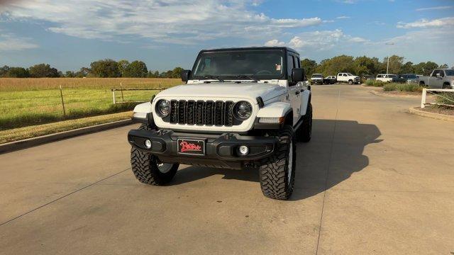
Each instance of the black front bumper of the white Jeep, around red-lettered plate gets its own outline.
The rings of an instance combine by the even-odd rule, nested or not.
[[[145,140],[151,141],[151,148],[145,148]],[[178,139],[204,140],[204,155],[182,154],[177,151]],[[131,130],[129,143],[138,149],[150,152],[162,162],[196,164],[226,168],[244,168],[245,164],[270,157],[275,152],[276,137],[256,137],[225,133],[222,135],[174,132],[172,130]],[[248,155],[240,155],[241,145],[249,147]]]

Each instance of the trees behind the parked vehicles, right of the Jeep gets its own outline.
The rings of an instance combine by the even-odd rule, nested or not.
[[[386,74],[388,58],[384,57],[383,61],[377,57],[352,57],[341,55],[332,57],[331,59],[322,60],[317,63],[315,60],[301,60],[301,67],[306,70],[306,75],[309,77],[312,74],[336,75],[339,72],[349,72],[358,76],[377,74]],[[389,74],[423,74],[429,75],[436,68],[448,68],[448,64],[438,65],[435,62],[421,62],[414,64],[413,62],[404,62],[404,57],[392,55],[389,57]]]

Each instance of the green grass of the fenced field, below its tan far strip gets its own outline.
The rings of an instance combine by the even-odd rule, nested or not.
[[[62,92],[66,116],[59,89],[0,91],[0,130],[131,111],[138,104],[113,104],[110,89],[75,88],[63,89]],[[123,91],[123,98],[124,101],[148,101],[157,92]],[[116,91],[116,101],[122,101],[120,91]]]

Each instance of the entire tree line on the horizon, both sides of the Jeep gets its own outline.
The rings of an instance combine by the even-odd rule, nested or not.
[[[306,70],[309,77],[312,74],[323,74],[323,76],[336,75],[338,72],[350,72],[358,76],[386,73],[387,57],[380,62],[377,57],[352,57],[341,55],[331,59],[322,60],[317,63],[315,60],[301,60],[301,67]],[[435,62],[404,62],[404,57],[392,55],[389,57],[389,74],[431,74],[433,69],[448,68],[448,64],[438,65]],[[92,62],[90,67],[82,67],[77,72],[67,71],[65,73],[50,67],[50,64],[35,64],[32,67],[0,67],[0,77],[15,78],[41,78],[41,77],[137,77],[137,78],[179,78],[182,67],[175,67],[165,72],[148,70],[145,62],[135,60],[98,60]]]

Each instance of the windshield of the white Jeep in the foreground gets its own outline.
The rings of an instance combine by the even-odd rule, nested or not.
[[[279,79],[284,77],[283,50],[203,52],[192,69],[195,79]]]

